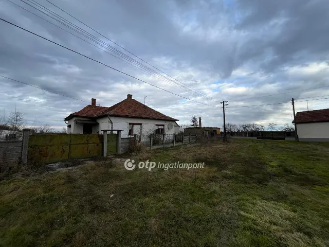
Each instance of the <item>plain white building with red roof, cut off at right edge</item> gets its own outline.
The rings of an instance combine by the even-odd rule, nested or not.
[[[301,141],[329,142],[329,109],[298,112],[296,126]]]

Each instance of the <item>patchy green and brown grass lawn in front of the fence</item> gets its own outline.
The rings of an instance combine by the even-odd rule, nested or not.
[[[0,246],[329,246],[329,145],[239,140],[0,182]]]

